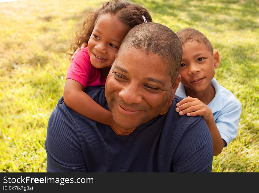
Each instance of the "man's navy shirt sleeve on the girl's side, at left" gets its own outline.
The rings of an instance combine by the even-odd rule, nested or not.
[[[62,98],[47,126],[47,172],[87,172],[76,127]]]

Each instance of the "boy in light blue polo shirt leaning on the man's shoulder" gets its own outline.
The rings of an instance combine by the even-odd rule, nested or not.
[[[212,136],[213,156],[220,154],[237,135],[242,105],[214,78],[219,67],[218,51],[200,31],[184,28],[177,36],[183,55],[179,70],[181,82],[176,95],[184,98],[176,104],[179,115],[202,116]]]

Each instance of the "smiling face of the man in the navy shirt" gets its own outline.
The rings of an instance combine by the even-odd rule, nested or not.
[[[176,88],[162,58],[130,48],[119,51],[107,76],[105,96],[114,121],[133,129],[157,116]]]

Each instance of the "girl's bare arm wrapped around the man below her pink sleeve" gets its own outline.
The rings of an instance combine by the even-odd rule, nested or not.
[[[63,93],[66,105],[89,119],[112,127],[114,124],[112,113],[97,104],[84,92],[84,89],[84,86],[76,80],[67,79]]]

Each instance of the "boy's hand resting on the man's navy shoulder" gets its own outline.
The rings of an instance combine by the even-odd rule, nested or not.
[[[212,111],[207,105],[202,103],[199,99],[189,96],[177,103],[176,106],[177,108],[175,111],[179,112],[179,115],[200,115],[205,119],[205,121],[209,120],[210,115],[212,114]]]

